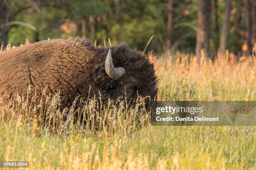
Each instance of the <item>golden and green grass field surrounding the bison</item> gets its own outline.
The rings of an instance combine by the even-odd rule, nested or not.
[[[255,56],[236,61],[229,55],[214,62],[202,57],[200,66],[195,57],[179,53],[148,56],[159,77],[158,100],[256,100]],[[0,161],[29,161],[30,169],[256,168],[255,127],[152,127],[145,110],[123,112],[111,103],[104,116],[100,112],[94,118],[95,101],[79,110],[97,119],[92,127],[83,127],[72,123],[74,110],[55,109],[57,95],[42,103],[46,105],[28,105],[26,97],[17,97],[4,104],[2,96]],[[42,123],[36,111],[48,115],[49,123]],[[51,126],[52,120],[56,125]]]

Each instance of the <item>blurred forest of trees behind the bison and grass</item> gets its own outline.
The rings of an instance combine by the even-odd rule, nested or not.
[[[251,54],[255,0],[0,0],[0,43],[88,37],[156,52]]]

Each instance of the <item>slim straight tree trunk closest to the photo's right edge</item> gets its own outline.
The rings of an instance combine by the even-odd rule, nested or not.
[[[247,44],[247,55],[252,54],[252,17],[251,17],[252,4],[251,0],[246,0],[246,44]]]

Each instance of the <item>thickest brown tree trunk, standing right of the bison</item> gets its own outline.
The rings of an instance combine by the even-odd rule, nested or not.
[[[197,42],[195,51],[197,62],[199,62],[201,50],[204,50],[207,57],[210,54],[211,2],[209,0],[197,0],[197,7]]]

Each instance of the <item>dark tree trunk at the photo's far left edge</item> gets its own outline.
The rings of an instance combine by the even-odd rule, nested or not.
[[[8,5],[7,5],[7,0],[2,0],[0,2],[0,25],[5,25],[8,23]],[[0,46],[3,43],[3,50],[6,49],[6,46],[8,44],[8,32],[9,32],[9,27],[5,26],[3,27],[0,32],[2,33],[2,40],[0,41]]]

